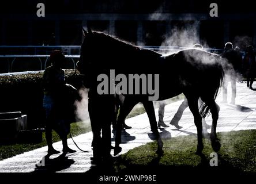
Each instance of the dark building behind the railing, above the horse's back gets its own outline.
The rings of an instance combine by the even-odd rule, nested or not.
[[[37,3],[46,16],[37,17]],[[231,41],[242,50],[256,44],[253,1],[6,1],[0,7],[0,45],[81,45],[82,27],[114,34],[137,45],[223,48]],[[0,55],[12,54],[0,49]]]

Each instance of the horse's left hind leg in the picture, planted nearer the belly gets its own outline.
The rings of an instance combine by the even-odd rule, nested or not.
[[[185,94],[186,95],[186,94]],[[187,102],[189,103],[189,109],[194,116],[195,127],[197,127],[197,151],[196,154],[201,154],[204,149],[204,144],[202,143],[202,117],[200,116],[198,110],[198,98],[192,95],[186,95]]]

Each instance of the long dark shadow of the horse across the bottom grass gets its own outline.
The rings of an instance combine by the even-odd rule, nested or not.
[[[204,154],[199,156],[201,158],[201,163],[199,163],[198,166],[163,166],[159,164],[161,157],[152,159],[152,162],[147,165],[132,165],[126,163],[126,160],[123,160],[121,157],[116,157],[114,163],[92,167],[91,170],[85,173],[85,175],[86,179],[90,179],[93,183],[101,183],[102,181],[100,181],[100,179],[108,176],[119,177],[118,183],[133,183],[135,181],[129,181],[128,176],[138,177],[141,175],[151,178],[154,176],[156,181],[147,181],[146,183],[169,183],[174,178],[179,179],[182,182],[191,182],[195,179],[201,179],[202,177],[208,178],[211,181],[219,181],[222,177],[232,180],[238,176],[252,175],[251,173],[244,173],[243,171],[232,167],[221,158],[221,155],[218,155],[221,164],[217,167],[211,167],[209,165],[209,160]],[[140,182],[141,181],[136,181],[135,183]]]

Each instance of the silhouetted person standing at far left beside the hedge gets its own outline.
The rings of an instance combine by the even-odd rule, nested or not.
[[[58,133],[63,144],[63,153],[73,153],[67,146],[67,134],[70,132],[70,122],[65,116],[65,72],[62,70],[62,63],[65,56],[59,50],[51,53],[52,65],[44,70],[43,75],[43,107],[46,111],[46,141],[48,145],[48,155],[58,154],[52,146],[52,129]]]

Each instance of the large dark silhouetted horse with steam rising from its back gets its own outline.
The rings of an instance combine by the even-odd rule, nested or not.
[[[116,75],[159,74],[159,100],[172,98],[180,93],[185,94],[187,98],[197,127],[197,153],[200,154],[204,148],[202,117],[205,117],[209,111],[212,113],[213,119],[210,134],[212,147],[214,151],[220,150],[220,143],[216,136],[220,108],[216,104],[215,98],[224,74],[219,56],[200,49],[186,49],[164,56],[148,49],[135,47],[102,32],[92,32],[89,28],[88,31],[83,31],[85,38],[81,45],[78,66],[80,72],[86,75],[86,71],[99,73],[99,71],[115,69]],[[125,101],[118,116],[114,155],[119,154],[122,150],[119,147],[122,122],[138,102],[144,104],[152,132],[156,135],[157,153],[163,153],[163,141],[157,130],[155,110],[153,102],[148,100],[149,96],[150,94],[125,94]],[[204,102],[200,113],[197,103],[199,97]]]

